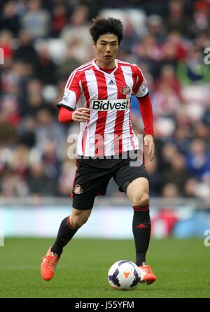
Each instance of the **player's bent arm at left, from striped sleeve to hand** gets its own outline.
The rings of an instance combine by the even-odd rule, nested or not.
[[[89,108],[76,108],[81,89],[80,73],[75,70],[67,80],[62,101],[57,104],[57,107],[59,107],[59,122],[86,122],[90,119]]]

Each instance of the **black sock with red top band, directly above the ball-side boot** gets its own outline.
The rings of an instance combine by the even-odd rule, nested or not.
[[[146,252],[151,238],[151,218],[149,205],[133,206],[133,234],[136,246],[136,264],[143,265],[146,262]]]

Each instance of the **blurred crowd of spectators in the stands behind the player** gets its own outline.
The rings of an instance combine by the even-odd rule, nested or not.
[[[210,199],[209,0],[0,0],[0,197],[67,196],[76,162],[56,104],[71,71],[94,58],[92,17],[118,17],[118,59],[136,63],[154,112],[152,197]],[[210,56],[209,56],[210,61]],[[144,133],[137,99],[134,132]],[[110,183],[107,196],[122,196]]]

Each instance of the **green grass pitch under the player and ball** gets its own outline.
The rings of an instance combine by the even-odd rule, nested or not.
[[[202,239],[151,240],[147,262],[153,285],[113,290],[107,272],[117,260],[134,261],[134,242],[73,239],[50,282],[39,267],[52,239],[5,239],[0,247],[1,298],[197,298],[210,297],[210,247]]]

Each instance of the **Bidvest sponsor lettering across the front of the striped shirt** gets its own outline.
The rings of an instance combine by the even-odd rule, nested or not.
[[[92,111],[125,111],[130,108],[130,99],[95,99],[91,108]]]

